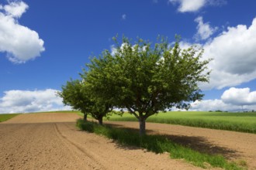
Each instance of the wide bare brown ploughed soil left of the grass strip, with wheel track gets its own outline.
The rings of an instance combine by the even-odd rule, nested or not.
[[[1,169],[200,169],[74,127],[76,114],[21,114],[0,124]]]

